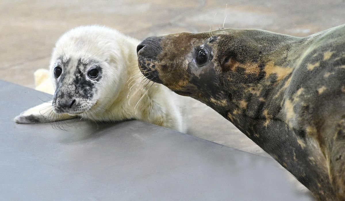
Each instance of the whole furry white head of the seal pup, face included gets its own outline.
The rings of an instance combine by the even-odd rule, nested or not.
[[[125,82],[121,74],[128,66],[127,56],[120,51],[126,47],[124,41],[114,36],[114,30],[102,27],[80,27],[58,40],[50,63],[55,113],[93,116],[105,112]]]

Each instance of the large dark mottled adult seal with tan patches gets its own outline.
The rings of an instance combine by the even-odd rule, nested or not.
[[[216,110],[321,200],[345,199],[345,26],[308,37],[221,29],[150,37],[142,69]]]

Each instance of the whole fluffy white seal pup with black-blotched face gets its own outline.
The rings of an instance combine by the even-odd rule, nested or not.
[[[14,121],[137,119],[184,132],[173,92],[141,77],[138,44],[106,27],[82,26],[66,32],[53,49],[48,73],[35,73],[36,89],[53,93],[52,101],[22,112]]]

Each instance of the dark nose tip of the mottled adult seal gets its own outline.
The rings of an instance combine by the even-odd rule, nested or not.
[[[157,54],[162,50],[160,47],[160,41],[162,37],[148,37],[137,46],[137,54],[143,55],[149,58],[155,58]]]

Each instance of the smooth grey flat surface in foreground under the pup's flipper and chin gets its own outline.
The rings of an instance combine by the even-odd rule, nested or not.
[[[0,86],[0,200],[311,200],[272,159],[145,122],[16,124],[49,98]]]

